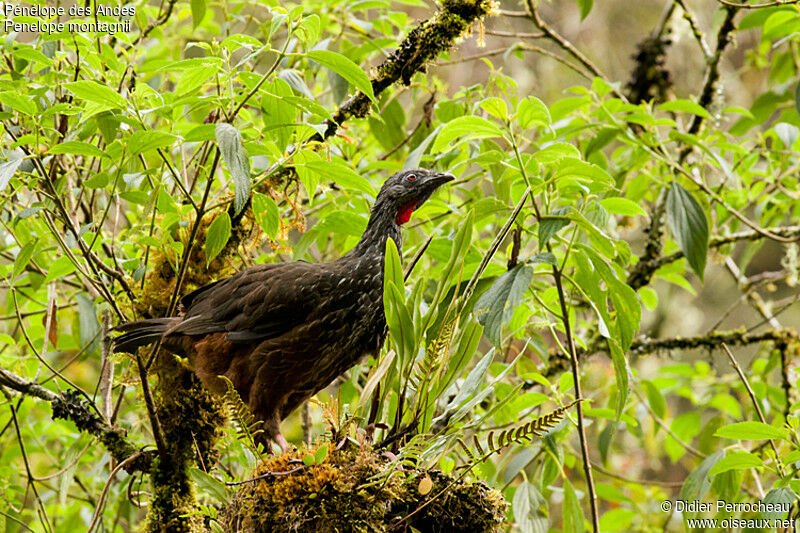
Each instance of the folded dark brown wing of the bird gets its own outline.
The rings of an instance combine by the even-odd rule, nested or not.
[[[184,297],[186,314],[169,334],[226,331],[233,342],[277,337],[302,324],[336,283],[328,265],[257,265]]]

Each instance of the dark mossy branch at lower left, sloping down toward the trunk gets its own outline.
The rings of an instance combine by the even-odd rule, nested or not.
[[[84,431],[100,440],[111,456],[118,462],[125,461],[139,449],[126,438],[124,431],[106,423],[89,407],[88,402],[74,390],[67,390],[60,395],[0,368],[0,385],[13,389],[26,396],[33,396],[50,402],[53,419],[63,418],[75,423],[80,431]],[[135,460],[125,465],[128,473],[147,471],[153,460],[153,453],[140,454]]]

